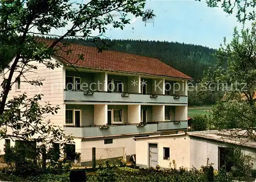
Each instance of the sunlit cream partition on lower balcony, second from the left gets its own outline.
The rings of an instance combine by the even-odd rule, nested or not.
[[[127,121],[128,123],[139,123],[141,115],[141,106],[140,105],[128,105],[127,106]]]

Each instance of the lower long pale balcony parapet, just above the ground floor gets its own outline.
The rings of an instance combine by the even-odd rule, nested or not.
[[[100,126],[64,126],[66,135],[73,135],[77,138],[108,137],[111,135],[154,133],[161,130],[186,130],[186,121],[169,122],[148,122],[141,124],[120,124]]]

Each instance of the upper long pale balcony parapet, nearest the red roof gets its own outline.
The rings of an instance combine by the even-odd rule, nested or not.
[[[64,100],[73,102],[123,102],[187,104],[187,96],[142,95],[134,93],[64,91]]]

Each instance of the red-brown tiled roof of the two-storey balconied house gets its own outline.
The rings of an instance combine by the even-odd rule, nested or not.
[[[50,46],[54,40],[36,38],[38,41],[44,42]],[[58,45],[58,44],[57,44]],[[94,69],[102,69],[109,71],[121,71],[130,73],[149,74],[165,77],[192,79],[184,73],[174,69],[173,67],[163,63],[162,61],[135,54],[127,54],[117,51],[103,51],[98,53],[97,48],[88,47],[78,44],[69,44],[68,47],[58,51],[57,56],[67,65],[76,65],[89,67]],[[71,50],[67,55],[65,51]],[[83,55],[84,60],[78,58]]]

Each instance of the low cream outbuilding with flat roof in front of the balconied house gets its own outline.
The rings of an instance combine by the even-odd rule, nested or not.
[[[225,156],[230,144],[237,144],[245,154],[256,158],[256,142],[248,139],[231,139],[230,133],[196,131],[136,138],[136,165],[148,168],[159,165],[161,168],[196,168],[214,163],[215,169],[226,164]],[[226,164],[227,168],[231,164]],[[253,161],[256,169],[256,162]]]

